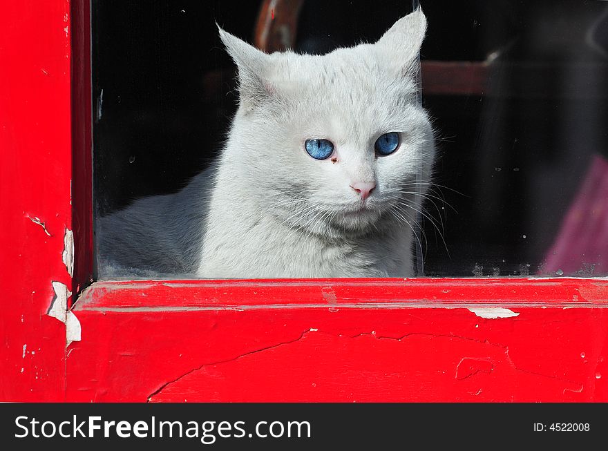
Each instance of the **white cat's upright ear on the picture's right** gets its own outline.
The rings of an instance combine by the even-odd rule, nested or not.
[[[388,61],[395,75],[411,75],[425,32],[426,17],[421,8],[417,8],[395,22],[374,44],[374,48],[380,53],[382,61]]]

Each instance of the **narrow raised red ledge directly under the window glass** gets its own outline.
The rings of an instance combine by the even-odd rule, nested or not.
[[[605,305],[608,283],[580,278],[415,278],[289,280],[160,280],[97,282],[79,308],[146,309],[234,305]]]

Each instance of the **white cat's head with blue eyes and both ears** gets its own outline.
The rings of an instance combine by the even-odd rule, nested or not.
[[[418,9],[374,44],[267,55],[220,29],[238,66],[234,177],[316,233],[414,222],[435,154],[416,81],[425,31]]]

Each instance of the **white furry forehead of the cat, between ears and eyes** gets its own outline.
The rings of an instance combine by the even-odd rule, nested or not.
[[[357,50],[289,60],[287,105],[305,135],[362,144],[378,133],[408,127],[410,108],[419,108],[415,81],[395,78],[381,61]]]

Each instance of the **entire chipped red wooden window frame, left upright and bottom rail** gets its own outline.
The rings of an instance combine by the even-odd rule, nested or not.
[[[0,9],[2,401],[608,401],[606,278],[91,283],[88,1]]]

